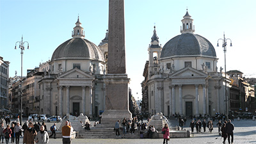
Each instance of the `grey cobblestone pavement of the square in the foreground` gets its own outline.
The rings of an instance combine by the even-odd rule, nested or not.
[[[175,126],[178,124],[176,120],[170,120],[171,125]],[[184,129],[189,129],[190,120],[187,121]],[[208,130],[206,132],[200,134],[192,134],[191,138],[172,138],[169,143],[222,143],[223,138],[218,135],[218,127],[216,126],[216,121],[214,122],[214,129],[210,133]],[[232,122],[235,125],[234,129],[234,143],[255,143],[256,144],[256,121],[253,120],[240,120],[236,119]],[[50,127],[53,123],[46,123],[47,127]],[[57,124],[57,127],[60,123]],[[49,129],[49,128],[48,128]],[[22,138],[20,138],[20,143]],[[61,138],[58,139],[50,139],[49,143],[62,143]],[[78,143],[92,143],[92,144],[108,144],[108,143],[129,143],[129,144],[137,144],[137,143],[163,143],[163,139],[124,139],[124,138],[116,138],[116,139],[84,139],[84,138],[76,138],[72,140],[73,144]],[[228,141],[226,140],[226,143]]]

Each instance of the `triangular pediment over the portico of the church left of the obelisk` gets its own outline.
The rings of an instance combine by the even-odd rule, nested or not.
[[[60,76],[58,76],[58,79],[68,79],[68,78],[77,78],[77,79],[94,79],[94,77],[89,74],[88,72],[84,72],[83,70],[80,70],[78,68],[73,68],[72,70],[68,70],[67,72],[64,72]]]

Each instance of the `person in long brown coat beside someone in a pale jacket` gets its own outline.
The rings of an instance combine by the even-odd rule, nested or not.
[[[24,132],[23,143],[33,144],[35,143],[34,138],[37,132],[34,129],[33,123],[29,122],[28,129]]]

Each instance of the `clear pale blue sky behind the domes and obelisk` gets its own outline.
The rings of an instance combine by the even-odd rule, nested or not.
[[[218,67],[224,67],[222,47],[216,47],[223,31],[232,40],[227,47],[227,71],[240,70],[245,77],[256,77],[255,34],[256,1],[171,1],[126,0],[125,44],[129,87],[141,98],[143,70],[148,60],[148,44],[156,24],[162,44],[180,35],[180,26],[188,8],[194,19],[195,33],[207,38],[216,49]],[[10,77],[20,76],[20,49],[15,42],[29,42],[24,51],[23,75],[27,69],[51,59],[52,53],[72,38],[79,14],[85,38],[99,45],[108,29],[108,0],[0,0],[0,56],[10,61]],[[229,45],[229,42],[228,42]],[[138,92],[138,94],[136,94]]]

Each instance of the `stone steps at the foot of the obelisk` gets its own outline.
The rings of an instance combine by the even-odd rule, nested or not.
[[[127,132],[124,136],[123,131],[120,130],[120,137],[116,137],[116,132],[113,128],[95,128],[92,127],[90,131],[80,131],[78,138],[140,138],[138,131],[134,134]]]

